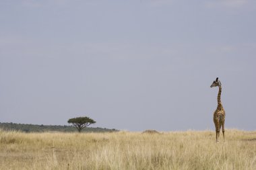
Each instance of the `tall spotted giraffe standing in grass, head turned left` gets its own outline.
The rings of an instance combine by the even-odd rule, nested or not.
[[[214,81],[211,85],[211,87],[219,87],[219,92],[218,92],[218,106],[216,111],[214,112],[214,124],[215,124],[215,129],[216,129],[216,142],[219,142],[219,136],[220,136],[220,128],[222,127],[222,134],[223,138],[225,140],[224,136],[224,124],[225,124],[225,111],[222,106],[222,102],[220,101],[220,95],[222,94],[222,83],[218,80],[218,77],[216,78],[216,81]]]

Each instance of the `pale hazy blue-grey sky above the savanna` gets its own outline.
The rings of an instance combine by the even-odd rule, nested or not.
[[[0,0],[0,122],[256,130],[256,1]]]

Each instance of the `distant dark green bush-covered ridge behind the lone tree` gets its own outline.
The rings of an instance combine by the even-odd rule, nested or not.
[[[37,125],[37,124],[15,124],[15,123],[1,123],[0,129],[7,131],[20,131],[20,132],[77,132],[74,126],[61,126],[61,125]],[[108,128],[84,128],[82,132],[117,132],[116,129]]]

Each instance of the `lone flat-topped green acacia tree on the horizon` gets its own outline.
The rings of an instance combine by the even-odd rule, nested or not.
[[[77,128],[78,132],[81,132],[81,130],[90,124],[95,124],[96,122],[88,117],[78,117],[78,118],[71,118],[67,121],[69,124],[72,124]]]

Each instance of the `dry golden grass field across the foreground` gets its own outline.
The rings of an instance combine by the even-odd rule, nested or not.
[[[225,134],[0,130],[0,169],[256,169],[256,131]]]

